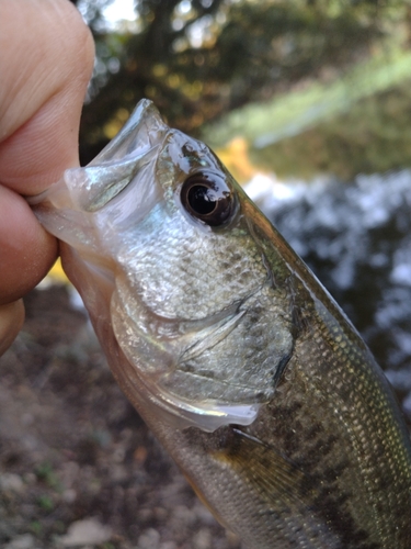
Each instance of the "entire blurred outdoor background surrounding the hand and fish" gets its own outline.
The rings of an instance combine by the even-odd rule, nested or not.
[[[141,98],[205,141],[345,310],[411,425],[411,2],[77,0],[96,60],[81,163]],[[238,541],[113,382],[56,268],[0,360],[7,549]]]

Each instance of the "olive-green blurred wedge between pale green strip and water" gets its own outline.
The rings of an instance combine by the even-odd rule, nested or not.
[[[357,173],[411,167],[411,81],[358,101],[312,130],[253,150],[259,165],[279,177],[318,172],[350,180]]]

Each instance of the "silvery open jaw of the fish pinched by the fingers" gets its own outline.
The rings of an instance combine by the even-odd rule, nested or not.
[[[113,237],[118,239],[161,200],[155,170],[168,133],[156,107],[142,100],[87,167],[67,169],[59,181],[27,202],[57,238],[79,251],[107,256],[116,246]]]

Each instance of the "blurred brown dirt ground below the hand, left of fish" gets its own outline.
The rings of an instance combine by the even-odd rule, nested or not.
[[[0,359],[0,547],[238,549],[114,382],[66,287]]]

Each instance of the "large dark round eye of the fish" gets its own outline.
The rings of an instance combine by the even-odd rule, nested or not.
[[[198,171],[181,187],[181,203],[192,217],[212,227],[226,224],[236,211],[233,192],[225,178],[212,171]]]

